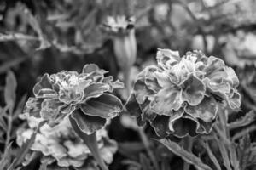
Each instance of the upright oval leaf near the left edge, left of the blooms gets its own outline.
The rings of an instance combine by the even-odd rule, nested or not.
[[[9,105],[9,111],[11,113],[15,107],[16,88],[17,88],[17,81],[15,78],[15,74],[12,71],[8,71],[7,77],[5,79],[4,99],[5,99],[6,105]]]

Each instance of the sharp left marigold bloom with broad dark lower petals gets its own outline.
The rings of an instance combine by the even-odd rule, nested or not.
[[[84,65],[80,74],[76,71],[44,74],[34,86],[35,97],[28,99],[25,112],[43,118],[52,126],[71,116],[84,133],[95,133],[123,107],[113,95],[113,90],[122,88],[123,83],[104,77],[107,72],[90,64]]]

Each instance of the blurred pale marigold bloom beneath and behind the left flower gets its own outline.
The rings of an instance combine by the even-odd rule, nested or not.
[[[38,127],[39,122],[43,121],[42,118],[28,115],[22,115],[22,118],[28,122],[28,127],[22,127],[17,131],[16,142],[19,146],[32,137],[32,133]],[[113,154],[117,151],[116,142],[108,138],[107,131],[104,128],[96,132],[96,141],[102,159],[110,164],[113,161]],[[23,164],[30,163],[37,153],[42,154],[41,161],[48,160],[49,167],[55,165],[57,167],[89,168],[89,166],[96,164],[88,146],[74,132],[68,117],[65,117],[55,127],[44,124],[39,128],[36,139]],[[98,168],[94,167],[93,169]]]

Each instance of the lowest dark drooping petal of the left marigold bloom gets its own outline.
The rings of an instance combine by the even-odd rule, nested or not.
[[[83,111],[77,109],[71,114],[71,118],[77,123],[79,128],[86,134],[95,133],[105,126],[107,120],[99,116],[88,116]]]

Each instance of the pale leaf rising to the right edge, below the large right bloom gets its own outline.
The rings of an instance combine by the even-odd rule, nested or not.
[[[237,127],[245,127],[253,122],[256,118],[256,113],[254,111],[249,111],[245,116],[243,116],[240,120],[236,120],[236,122],[231,122],[228,126],[230,130]]]

